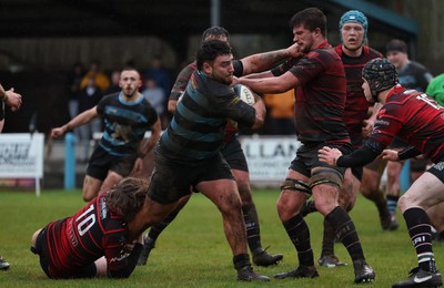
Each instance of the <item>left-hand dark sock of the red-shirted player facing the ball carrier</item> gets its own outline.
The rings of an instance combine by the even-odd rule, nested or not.
[[[302,266],[313,266],[313,250],[310,245],[310,230],[304,218],[297,214],[287,222],[282,223],[291,241],[297,250],[297,259]]]

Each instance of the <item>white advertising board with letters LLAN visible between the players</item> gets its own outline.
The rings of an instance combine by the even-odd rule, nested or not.
[[[301,146],[295,136],[241,136],[240,141],[252,184],[284,181]]]

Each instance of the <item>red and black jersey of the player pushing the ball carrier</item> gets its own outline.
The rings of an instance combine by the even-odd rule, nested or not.
[[[295,123],[301,142],[349,142],[344,123],[346,80],[336,51],[325,41],[291,69],[301,82],[295,93]]]

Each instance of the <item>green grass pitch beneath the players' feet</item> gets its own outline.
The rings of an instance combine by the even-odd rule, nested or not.
[[[254,267],[261,274],[274,274],[295,268],[296,254],[279,220],[275,202],[278,191],[253,192],[263,247],[284,254],[278,266]],[[72,215],[84,203],[80,191],[33,193],[0,193],[0,254],[11,264],[0,271],[1,287],[352,287],[353,266],[345,248],[337,244],[336,255],[349,265],[340,268],[319,267],[320,278],[272,279],[270,282],[240,282],[235,279],[232,255],[225,240],[221,215],[201,194],[194,194],[186,207],[159,237],[147,266],[138,266],[129,279],[50,280],[40,268],[38,257],[30,253],[34,230],[49,222]],[[351,216],[355,223],[367,261],[376,271],[370,287],[391,287],[404,280],[417,266],[404,220],[395,232],[383,232],[373,203],[362,196]],[[312,246],[317,260],[321,251],[322,217],[306,217]],[[437,267],[444,269],[444,246],[434,244]]]

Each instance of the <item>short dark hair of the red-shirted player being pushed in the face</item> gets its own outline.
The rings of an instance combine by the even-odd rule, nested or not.
[[[303,25],[310,31],[314,31],[316,28],[319,28],[321,30],[321,34],[326,37],[326,17],[317,8],[312,7],[295,13],[290,19],[290,28],[293,29],[299,25]]]

